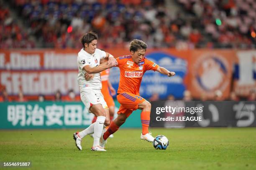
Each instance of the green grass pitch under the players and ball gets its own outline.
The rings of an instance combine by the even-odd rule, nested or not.
[[[151,130],[169,139],[167,150],[141,141],[141,129],[120,129],[108,140],[107,152],[90,151],[90,136],[77,150],[75,130],[0,130],[0,162],[31,161],[25,169],[38,170],[256,169],[256,128]]]

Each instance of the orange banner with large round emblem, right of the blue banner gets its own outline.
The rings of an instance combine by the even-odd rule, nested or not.
[[[200,99],[215,99],[216,91],[227,99],[232,78],[232,50],[193,50],[189,60],[190,83],[188,90]],[[217,92],[217,93],[220,93]]]

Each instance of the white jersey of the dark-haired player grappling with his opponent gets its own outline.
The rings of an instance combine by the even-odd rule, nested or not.
[[[89,54],[88,52],[84,51],[82,48],[80,52],[78,52],[77,56],[77,65],[78,65],[78,76],[77,81],[80,86],[80,90],[82,89],[101,89],[101,80],[100,80],[100,73],[95,73],[92,80],[85,80],[84,74],[86,71],[83,70],[85,65],[90,65],[90,67],[97,67],[100,65],[100,59],[106,57],[106,52],[99,50],[96,48],[93,54]]]

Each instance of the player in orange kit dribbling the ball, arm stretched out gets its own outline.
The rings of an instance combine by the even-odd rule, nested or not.
[[[142,76],[147,70],[158,71],[169,77],[175,72],[170,72],[164,67],[145,57],[147,44],[141,40],[132,40],[130,43],[131,55],[118,57],[117,62],[120,69],[120,82],[118,87],[117,100],[120,102],[118,117],[110,123],[108,130],[100,138],[100,146],[104,147],[107,138],[115,133],[125,120],[131,115],[133,110],[140,109],[142,133],[141,140],[153,142],[154,137],[148,133],[150,122],[151,104],[139,94]]]

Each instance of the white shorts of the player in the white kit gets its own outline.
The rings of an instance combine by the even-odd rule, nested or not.
[[[89,109],[92,105],[97,104],[101,104],[104,109],[108,109],[100,89],[83,89],[80,91],[80,97],[88,112],[90,112]]]

